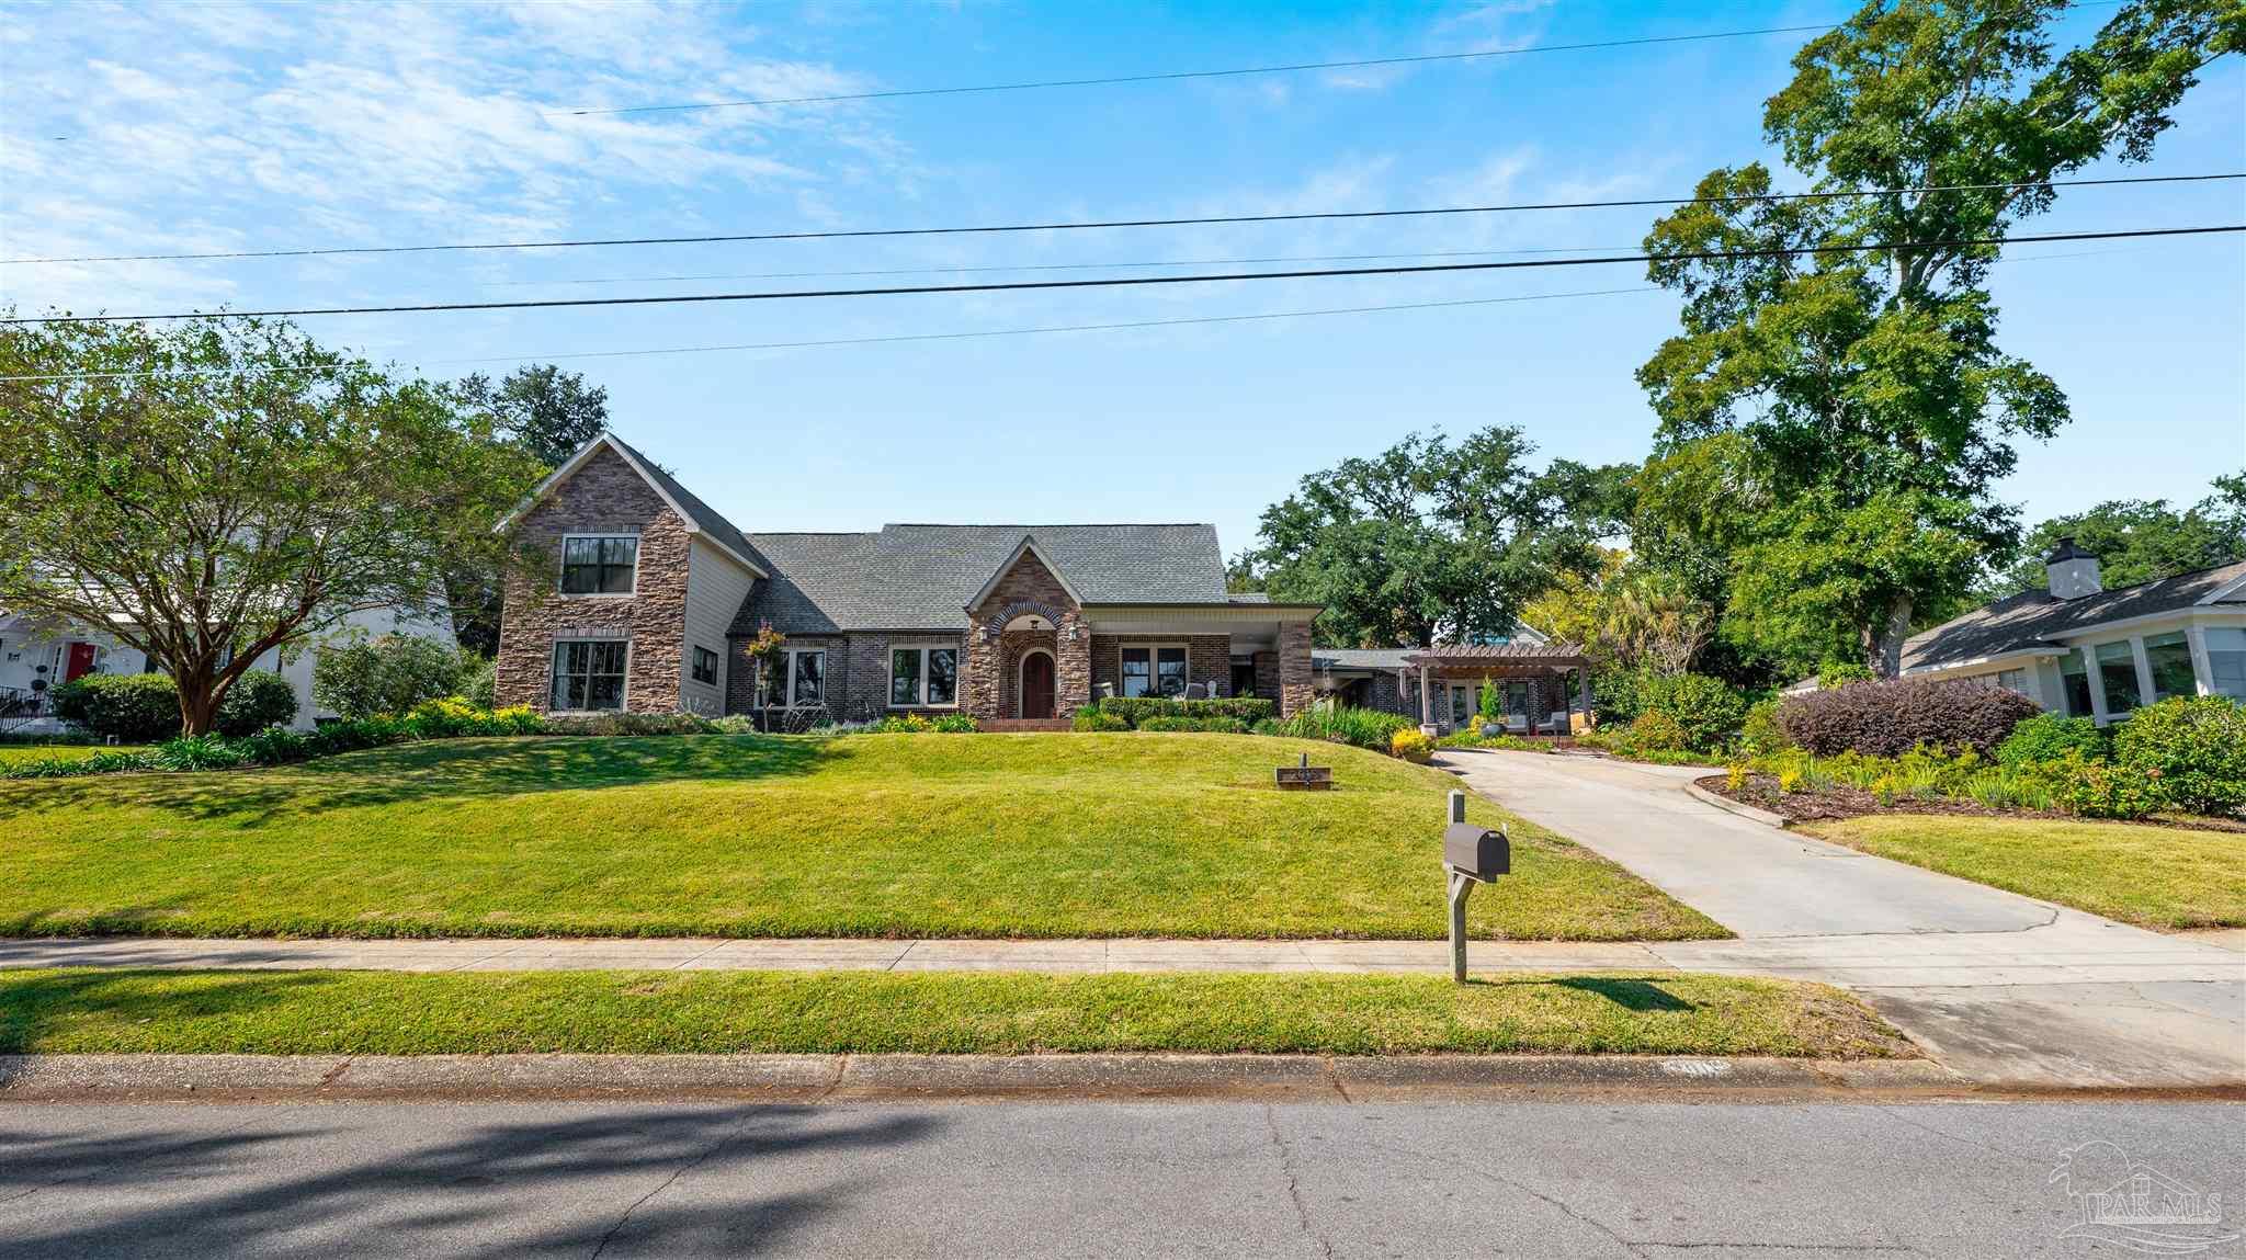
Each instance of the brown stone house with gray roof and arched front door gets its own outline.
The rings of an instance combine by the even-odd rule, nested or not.
[[[1314,699],[1314,604],[1224,591],[1213,526],[741,532],[611,433],[501,528],[499,701],[544,712],[892,712],[1058,723],[1098,694]],[[784,647],[759,665],[761,627]]]

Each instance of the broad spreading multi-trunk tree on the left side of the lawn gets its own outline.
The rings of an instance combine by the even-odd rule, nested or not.
[[[265,651],[442,613],[539,474],[445,386],[290,323],[9,326],[0,377],[0,606],[146,651],[186,734]]]

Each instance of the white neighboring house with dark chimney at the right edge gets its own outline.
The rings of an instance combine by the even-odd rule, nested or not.
[[[1902,645],[1905,678],[1976,678],[2100,725],[2170,696],[2246,701],[2246,564],[2107,591],[2075,539],[2044,557],[2044,591]]]

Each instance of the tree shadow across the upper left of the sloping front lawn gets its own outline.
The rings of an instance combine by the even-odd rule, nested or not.
[[[442,739],[272,770],[9,782],[0,784],[0,822],[31,811],[137,806],[249,827],[276,813],[420,800],[809,775],[844,755],[838,741],[759,734]]]

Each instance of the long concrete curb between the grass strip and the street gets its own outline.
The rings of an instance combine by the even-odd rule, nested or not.
[[[1437,1101],[1961,1096],[1929,1060],[1658,1056],[0,1056],[0,1101],[977,1098]]]

